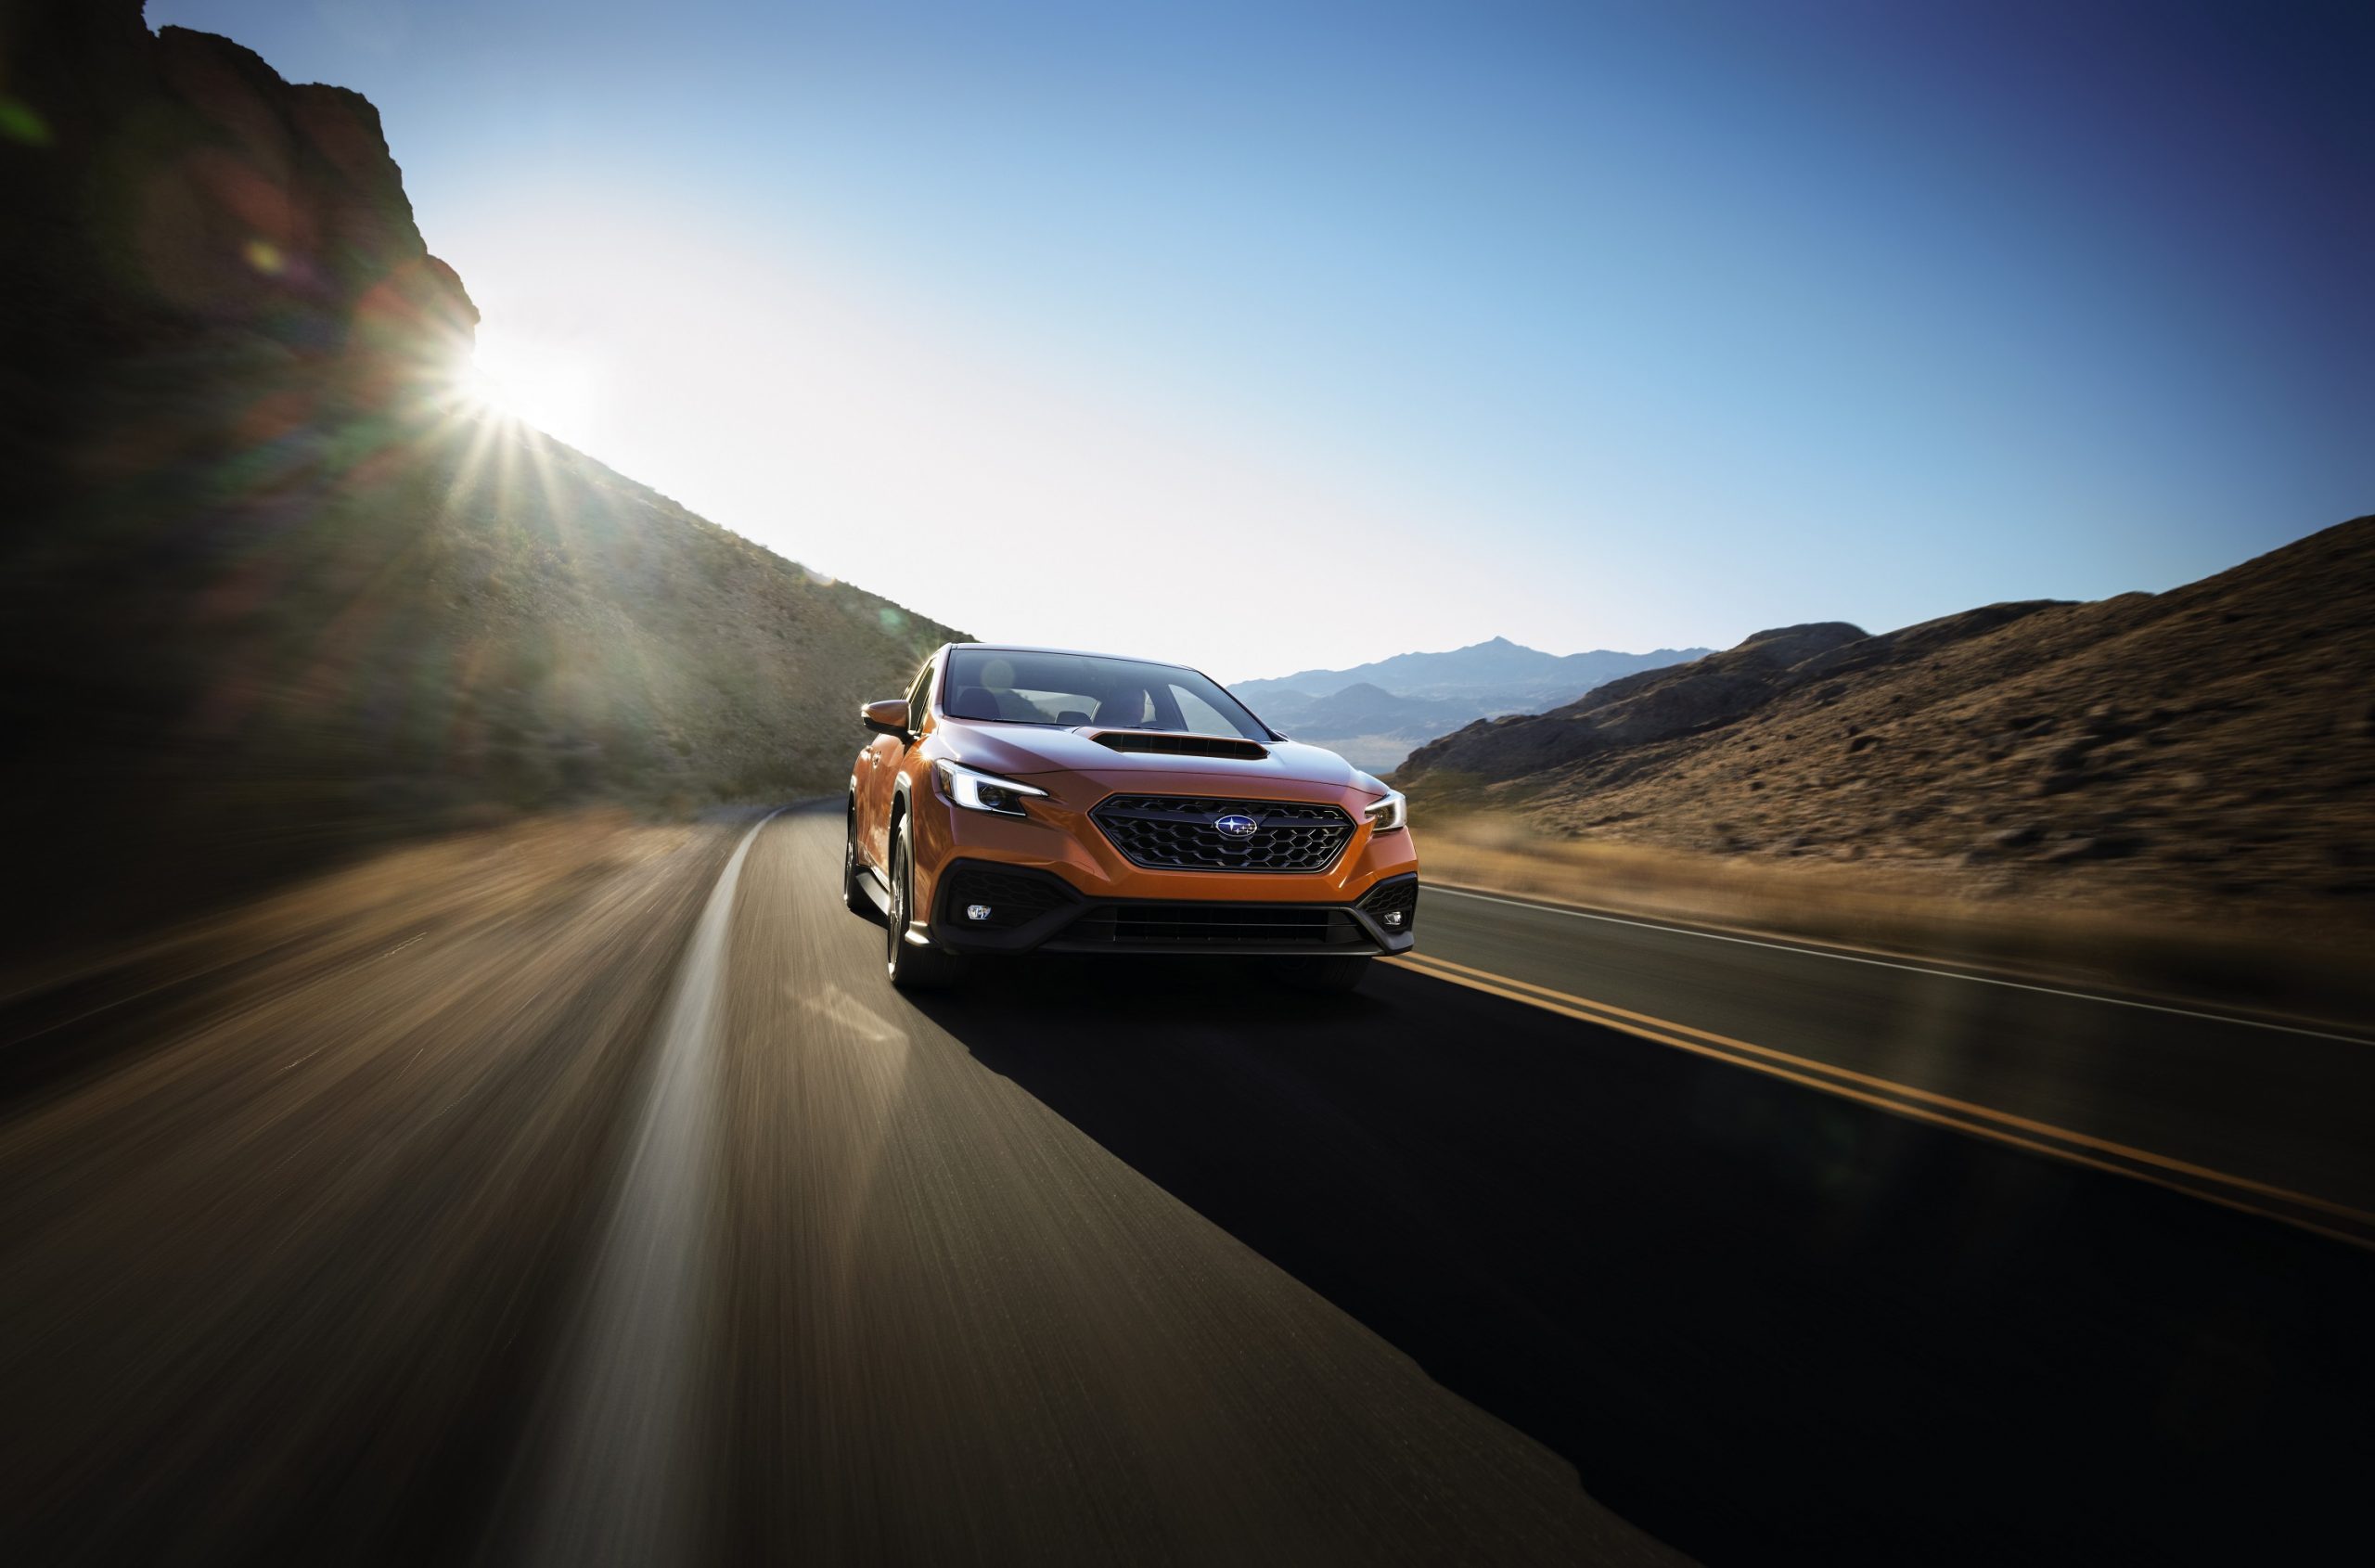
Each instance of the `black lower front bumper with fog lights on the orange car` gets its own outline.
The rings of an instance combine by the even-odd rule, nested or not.
[[[1285,957],[1408,953],[1418,877],[1387,877],[1354,903],[1083,898],[1052,872],[952,860],[931,941],[950,953],[1237,953]]]

